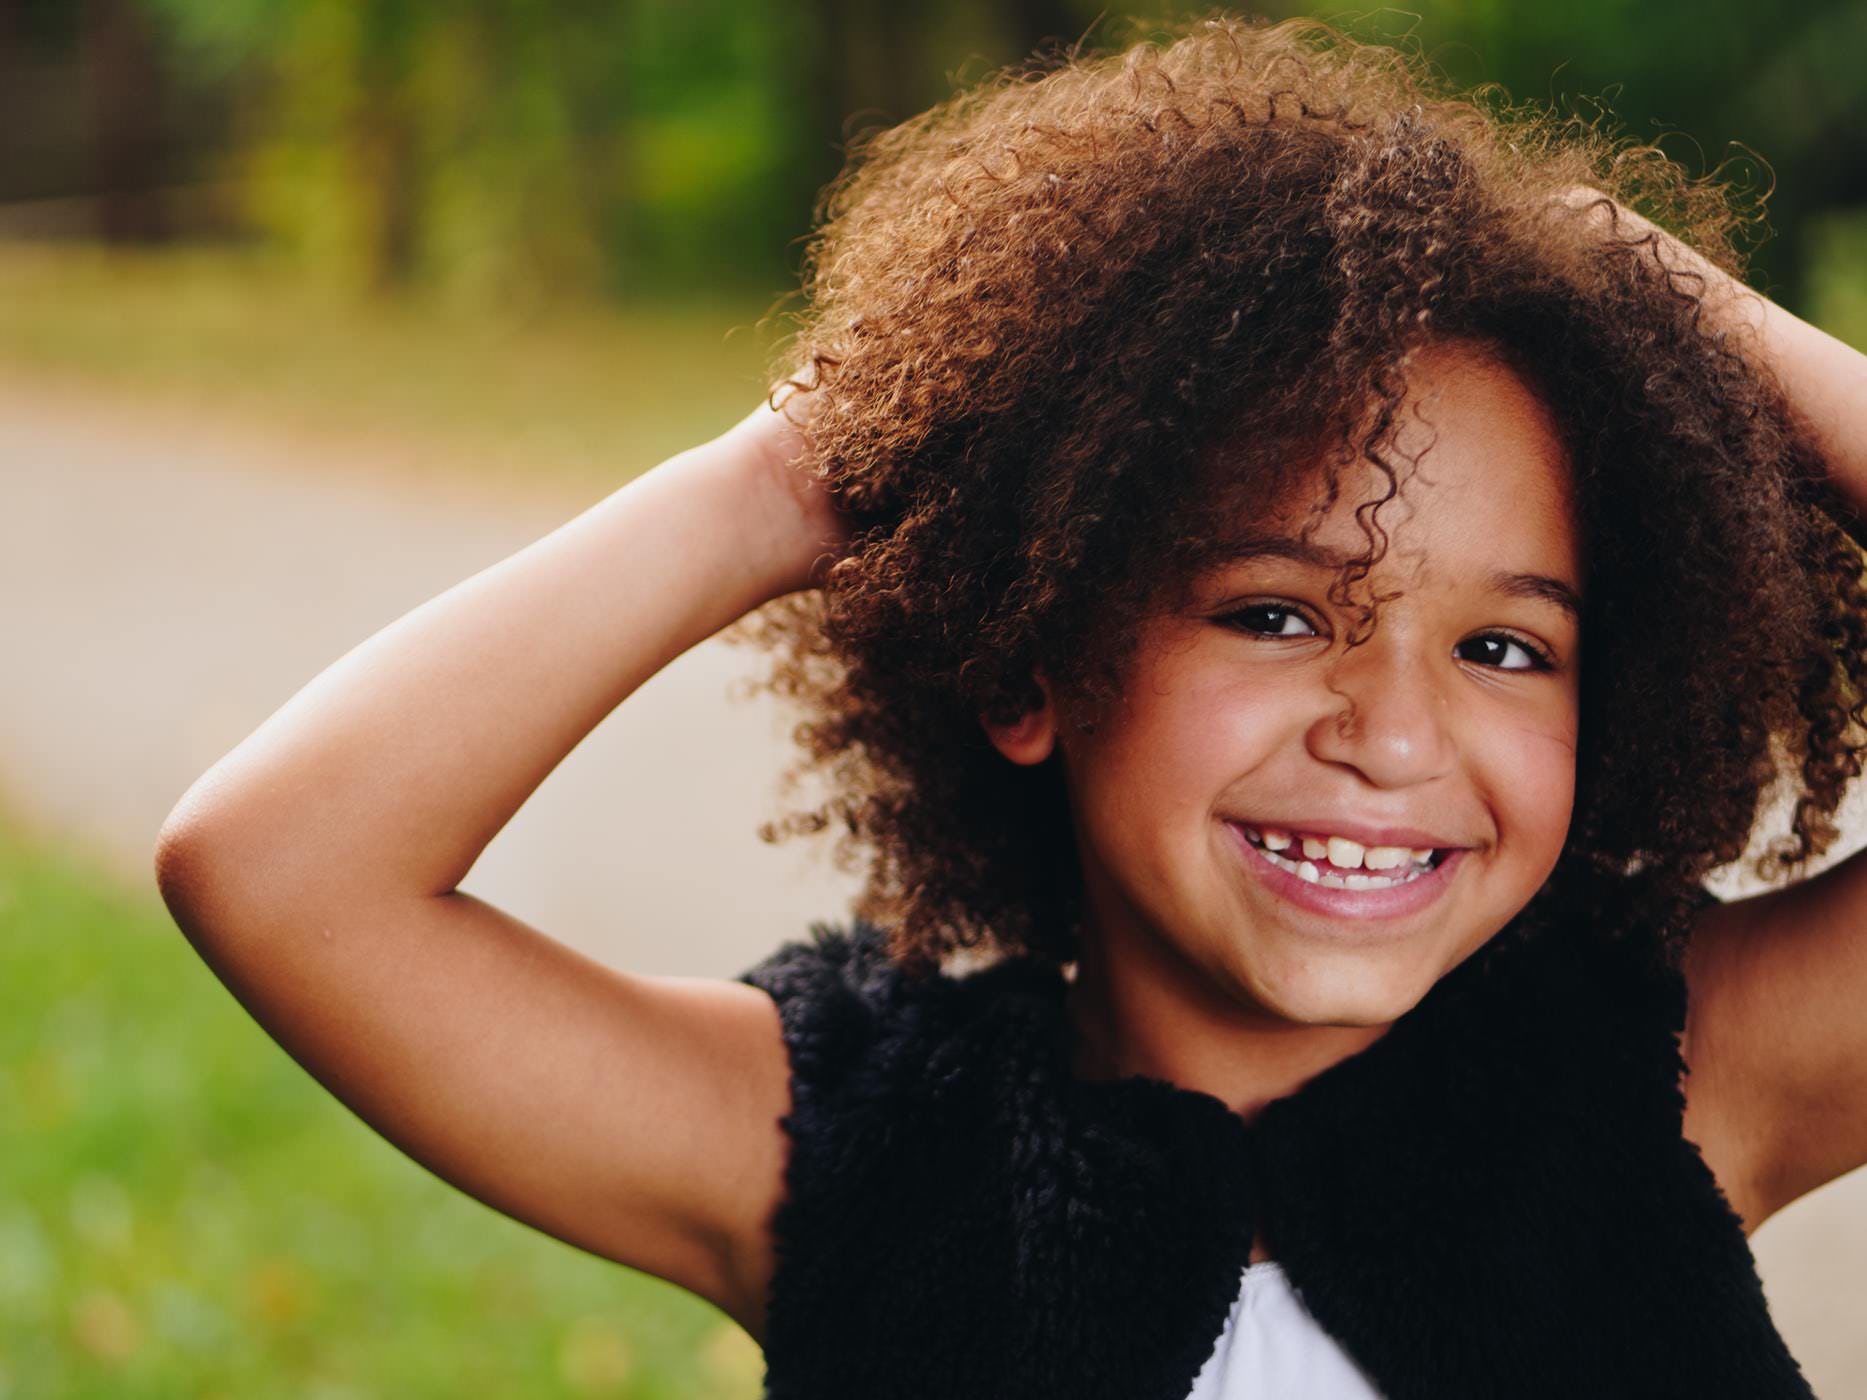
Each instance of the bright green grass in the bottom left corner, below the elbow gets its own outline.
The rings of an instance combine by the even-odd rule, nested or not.
[[[709,1305],[332,1099],[153,890],[0,819],[0,1400],[760,1391]]]

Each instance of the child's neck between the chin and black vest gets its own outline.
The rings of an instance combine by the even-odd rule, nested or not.
[[[1087,935],[1064,1006],[1077,1079],[1165,1079],[1247,1122],[1389,1029],[1273,1015],[1225,995],[1178,950],[1143,933]]]

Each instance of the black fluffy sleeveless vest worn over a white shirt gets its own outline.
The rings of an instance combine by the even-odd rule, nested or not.
[[[1488,945],[1247,1124],[1075,1079],[1055,969],[810,933],[739,978],[792,1064],[769,1400],[1186,1400],[1260,1230],[1389,1400],[1811,1396],[1682,1137],[1678,973]]]

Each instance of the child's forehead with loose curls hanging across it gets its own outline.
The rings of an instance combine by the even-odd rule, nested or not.
[[[1565,590],[1579,594],[1568,452],[1550,407],[1509,364],[1466,342],[1421,351],[1408,366],[1393,450],[1382,455],[1393,485],[1363,457],[1339,467],[1329,502],[1318,469],[1275,506],[1247,511],[1227,554],[1339,567],[1367,551],[1369,502],[1393,489],[1372,513],[1387,536],[1374,567],[1383,586],[1481,575],[1505,592],[1542,581],[1535,588],[1557,601]]]

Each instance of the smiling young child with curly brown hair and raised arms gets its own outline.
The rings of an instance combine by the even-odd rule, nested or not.
[[[777,1400],[1807,1396],[1746,1236],[1867,1161],[1867,866],[1703,879],[1860,773],[1867,360],[1733,222],[1313,22],[1004,75],[836,187],[767,405],[334,663],[162,894]],[[457,890],[741,618],[848,924],[652,978]]]

